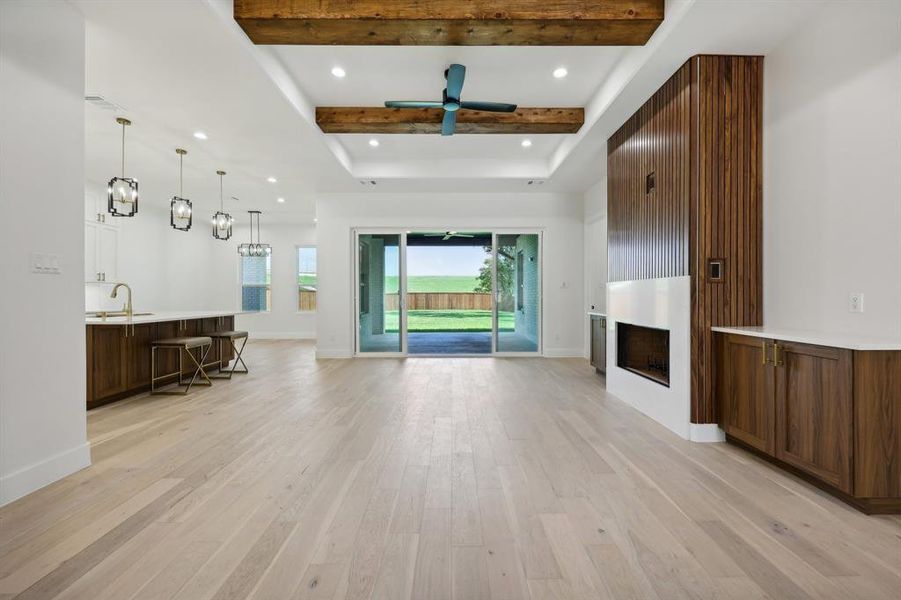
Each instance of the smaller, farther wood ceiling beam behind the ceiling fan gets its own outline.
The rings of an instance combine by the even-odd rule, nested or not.
[[[324,133],[441,133],[440,108],[320,106],[316,124]],[[519,108],[512,113],[461,110],[455,133],[576,133],[582,108]]]

